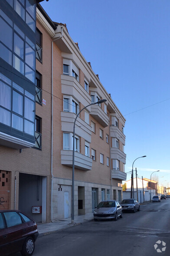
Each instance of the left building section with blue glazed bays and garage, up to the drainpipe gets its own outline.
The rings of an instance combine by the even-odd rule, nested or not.
[[[0,209],[49,222],[51,76],[36,75],[38,2],[0,1]],[[41,94],[41,80],[49,93]]]

